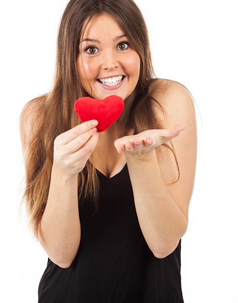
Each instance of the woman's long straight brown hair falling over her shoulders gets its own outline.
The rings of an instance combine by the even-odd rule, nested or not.
[[[76,66],[80,37],[83,37],[82,28],[84,24],[87,27],[94,15],[103,13],[115,17],[140,56],[138,83],[131,95],[124,100],[124,110],[116,122],[119,137],[127,136],[131,130],[135,135],[148,129],[164,128],[162,121],[156,119],[151,106],[152,99],[155,99],[149,94],[149,85],[157,78],[151,62],[148,31],[137,5],[133,0],[71,0],[59,25],[53,88],[28,102],[29,105],[37,105],[37,118],[34,121],[34,136],[28,146],[26,188],[21,205],[25,199],[29,225],[36,239],[49,193],[54,140],[59,134],[81,123],[74,112],[74,102],[80,97],[90,96],[82,87]],[[155,101],[159,104],[158,100]],[[160,107],[164,113],[162,106]],[[172,148],[167,144],[163,145],[173,152],[178,167],[173,145]],[[156,148],[156,154],[161,154],[160,147]],[[99,190],[100,182],[92,153],[86,166],[78,174],[79,202],[84,198],[91,198],[96,211]]]

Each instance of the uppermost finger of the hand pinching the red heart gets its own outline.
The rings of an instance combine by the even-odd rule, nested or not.
[[[94,121],[97,122],[96,125],[92,124]],[[84,134],[85,132],[89,131],[89,129],[92,129],[93,127],[97,126],[97,124],[98,124],[97,120],[89,120],[89,121],[85,121],[85,122],[75,126],[74,128],[68,130],[65,133],[62,133],[59,136],[60,143],[61,144],[69,143],[71,140],[73,140],[77,136],[80,136],[80,135]]]

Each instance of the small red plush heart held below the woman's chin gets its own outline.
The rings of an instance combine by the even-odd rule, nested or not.
[[[117,121],[123,109],[124,101],[117,95],[106,97],[103,100],[82,97],[74,104],[74,110],[82,122],[93,119],[98,121],[96,127],[99,133]]]

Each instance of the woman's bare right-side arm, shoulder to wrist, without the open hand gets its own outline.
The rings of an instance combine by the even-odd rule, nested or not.
[[[163,91],[163,90],[158,90]],[[193,98],[181,84],[170,81],[168,89],[154,97],[165,109],[165,129],[177,124],[186,126],[171,141],[180,171],[172,152],[161,146],[162,159],[153,151],[141,159],[125,152],[134,192],[135,208],[142,233],[153,254],[164,258],[172,253],[188,226],[189,203],[193,194],[197,154],[197,130]],[[164,116],[154,107],[157,118]]]

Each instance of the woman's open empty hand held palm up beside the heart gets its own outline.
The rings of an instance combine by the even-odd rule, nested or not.
[[[185,128],[183,124],[177,124],[172,129],[149,129],[137,135],[119,138],[114,142],[114,146],[119,153],[143,158],[159,145],[178,136]]]

